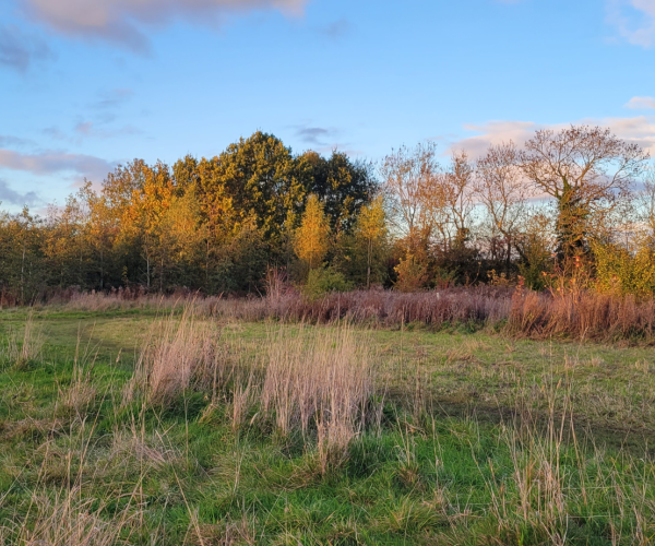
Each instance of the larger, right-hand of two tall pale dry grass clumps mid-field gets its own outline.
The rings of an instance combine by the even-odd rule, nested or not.
[[[262,411],[277,430],[317,430],[322,474],[340,467],[350,441],[379,415],[370,349],[341,327],[309,334],[273,336],[262,387]]]

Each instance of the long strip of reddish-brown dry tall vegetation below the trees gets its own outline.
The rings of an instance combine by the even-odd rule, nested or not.
[[[431,328],[466,324],[535,339],[655,340],[655,298],[598,294],[593,290],[536,293],[505,286],[454,287],[403,294],[353,290],[309,300],[297,290],[272,283],[266,297],[199,297],[192,295],[79,294],[64,304],[75,310],[150,308],[181,312],[193,302],[194,313],[230,320],[334,323],[396,328],[422,323]]]

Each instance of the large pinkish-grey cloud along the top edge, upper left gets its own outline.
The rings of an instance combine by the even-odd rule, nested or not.
[[[146,50],[140,25],[174,20],[216,23],[254,10],[300,13],[308,0],[19,0],[25,13],[52,29],[75,37],[99,38]]]

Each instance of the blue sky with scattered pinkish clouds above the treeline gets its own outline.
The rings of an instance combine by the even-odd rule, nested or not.
[[[540,128],[655,155],[655,0],[0,0],[0,201],[44,211],[134,158],[448,159]]]

